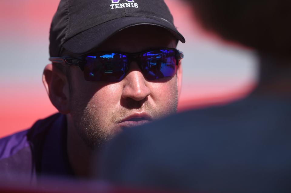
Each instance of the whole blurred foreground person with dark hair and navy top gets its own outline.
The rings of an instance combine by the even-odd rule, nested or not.
[[[126,130],[108,146],[99,177],[179,191],[291,192],[291,2],[190,2],[206,29],[257,50],[257,88],[229,105]]]

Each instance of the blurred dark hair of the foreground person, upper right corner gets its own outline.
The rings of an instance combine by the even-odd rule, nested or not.
[[[291,2],[188,0],[201,24],[226,40],[239,42],[260,53],[291,53]]]

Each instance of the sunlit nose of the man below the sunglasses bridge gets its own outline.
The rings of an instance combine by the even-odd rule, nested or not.
[[[135,101],[141,101],[151,94],[147,81],[136,62],[129,64],[129,71],[123,81],[125,85],[122,98],[124,99],[131,98]]]

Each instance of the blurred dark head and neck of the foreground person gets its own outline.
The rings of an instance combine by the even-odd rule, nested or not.
[[[291,2],[188,0],[202,26],[258,53],[259,84],[254,93],[291,95]]]

